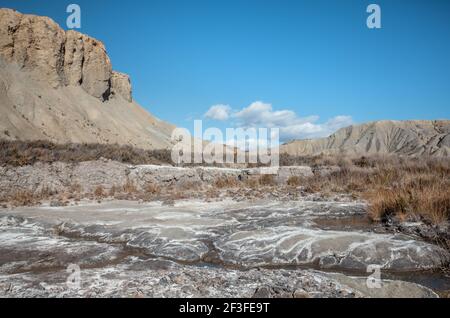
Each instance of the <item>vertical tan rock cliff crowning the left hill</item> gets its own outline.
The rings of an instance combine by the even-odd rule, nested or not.
[[[0,9],[0,56],[52,87],[79,85],[103,101],[115,90],[131,102],[128,76],[112,71],[103,43],[50,18]]]

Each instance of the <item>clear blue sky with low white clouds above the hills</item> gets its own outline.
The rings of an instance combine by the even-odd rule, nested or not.
[[[0,0],[64,28],[70,3],[135,100],[178,126],[213,105],[228,116],[208,125],[295,126],[285,138],[450,117],[447,0]],[[370,3],[380,30],[366,26]]]

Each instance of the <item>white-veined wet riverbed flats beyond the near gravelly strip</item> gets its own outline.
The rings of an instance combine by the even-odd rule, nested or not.
[[[117,267],[130,257],[180,266],[247,271],[320,270],[382,277],[449,290],[438,271],[446,251],[385,233],[363,203],[111,201],[0,212],[0,273],[43,273],[69,263]]]

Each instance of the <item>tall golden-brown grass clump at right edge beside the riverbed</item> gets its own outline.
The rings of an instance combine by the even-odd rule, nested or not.
[[[432,223],[450,218],[450,170],[447,159],[384,162],[365,191],[374,219],[420,216]]]

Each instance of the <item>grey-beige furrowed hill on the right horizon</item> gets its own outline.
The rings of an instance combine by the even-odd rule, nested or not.
[[[295,140],[281,146],[291,155],[399,154],[447,157],[450,155],[450,120],[379,121],[350,126],[328,138]]]

